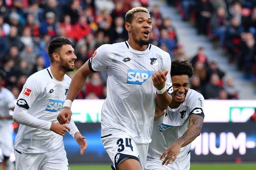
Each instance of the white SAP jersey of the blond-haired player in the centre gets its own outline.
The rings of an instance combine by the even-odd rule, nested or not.
[[[100,46],[89,60],[91,71],[107,70],[107,97],[102,106],[102,131],[106,136],[124,131],[143,144],[151,141],[156,91],[152,73],[168,70],[166,88],[172,93],[171,58],[157,46],[137,51],[128,42]]]

